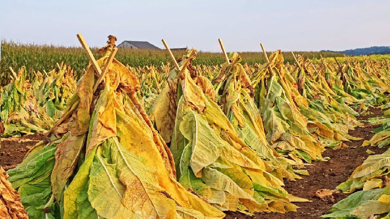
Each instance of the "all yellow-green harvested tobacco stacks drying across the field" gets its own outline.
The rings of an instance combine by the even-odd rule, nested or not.
[[[355,117],[390,108],[390,62],[381,57],[285,64],[124,66],[113,41],[76,80],[70,66],[21,67],[2,87],[2,137],[45,133],[7,172],[19,218],[222,218],[224,211],[296,211],[284,180],[308,175],[327,148],[360,140]],[[116,51],[115,51],[116,52]],[[388,111],[386,111],[388,112]],[[364,145],[390,144],[390,111]],[[353,193],[323,217],[387,217],[390,152],[371,155],[347,182]],[[4,198],[4,197],[3,197]],[[0,195],[0,203],[1,203]],[[295,203],[295,204],[294,204]],[[371,209],[367,211],[367,209]],[[4,213],[7,214],[7,213]],[[18,218],[16,217],[16,218]]]

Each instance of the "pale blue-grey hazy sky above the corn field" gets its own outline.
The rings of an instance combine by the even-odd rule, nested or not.
[[[90,47],[108,35],[163,48],[319,51],[390,46],[389,0],[0,0],[0,37]]]

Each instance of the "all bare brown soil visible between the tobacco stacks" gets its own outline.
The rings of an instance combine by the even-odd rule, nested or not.
[[[377,108],[372,108],[372,115],[357,117],[358,120],[365,120],[368,117],[377,117],[382,115],[382,111]],[[355,137],[361,137],[363,140],[347,142],[349,148],[331,150],[328,149],[323,153],[323,157],[330,157],[326,162],[313,162],[312,166],[307,166],[310,176],[303,176],[302,180],[285,182],[285,189],[292,195],[301,198],[307,198],[312,202],[295,203],[299,208],[297,212],[288,212],[286,214],[277,213],[258,213],[254,216],[248,216],[236,212],[227,212],[227,219],[312,219],[317,218],[328,211],[334,203],[346,198],[348,194],[339,193],[333,195],[334,200],[320,200],[313,197],[312,193],[319,189],[334,189],[341,182],[347,180],[353,170],[363,163],[369,156],[366,153],[367,149],[374,151],[376,154],[381,154],[386,151],[387,147],[360,147],[364,140],[369,140],[374,134],[371,132],[378,126],[363,124],[362,127],[357,127],[356,130],[351,130],[349,134]],[[23,157],[27,152],[28,146],[37,143],[42,134],[23,136],[21,138],[2,139],[0,148],[0,165],[5,170],[14,168],[17,164],[23,161]]]

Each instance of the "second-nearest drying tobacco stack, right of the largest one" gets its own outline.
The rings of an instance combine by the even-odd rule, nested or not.
[[[304,200],[290,196],[283,182],[267,172],[271,168],[215,102],[211,82],[186,65],[194,54],[190,50],[181,58],[181,71],[170,72],[152,106],[160,133],[171,140],[179,182],[220,210],[246,214],[296,210],[291,201]]]

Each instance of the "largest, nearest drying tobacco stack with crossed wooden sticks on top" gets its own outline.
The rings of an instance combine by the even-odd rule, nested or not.
[[[46,139],[8,172],[29,216],[222,218],[176,181],[172,154],[135,95],[137,78],[111,59],[115,40],[96,61],[102,82],[90,65]]]

